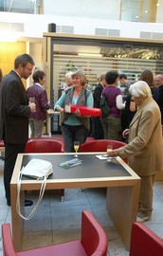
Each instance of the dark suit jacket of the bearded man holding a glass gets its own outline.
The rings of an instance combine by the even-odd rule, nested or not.
[[[11,70],[0,84],[0,139],[10,144],[24,144],[28,139],[30,108],[24,84]]]

